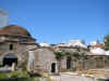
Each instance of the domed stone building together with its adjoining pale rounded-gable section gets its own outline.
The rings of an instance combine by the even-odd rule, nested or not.
[[[31,33],[17,25],[0,29],[0,66],[17,68],[27,65],[31,70],[58,72],[53,51],[39,46]]]

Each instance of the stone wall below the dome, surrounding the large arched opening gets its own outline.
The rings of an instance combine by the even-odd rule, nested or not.
[[[10,50],[10,44],[13,44],[13,50]],[[0,43],[0,65],[3,64],[3,57],[8,54],[15,54],[17,56],[17,66],[22,65],[27,58],[29,45],[31,44],[21,44],[17,42]]]

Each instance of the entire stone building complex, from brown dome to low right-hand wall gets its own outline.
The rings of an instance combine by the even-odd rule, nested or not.
[[[12,67],[14,63],[17,68],[27,65],[31,70],[57,73],[59,63],[55,51],[61,50],[70,53],[61,59],[61,70],[109,68],[109,56],[93,54],[88,52],[86,45],[77,44],[39,45],[25,28],[9,25],[0,29],[0,66]],[[75,58],[74,55],[78,53],[81,55],[85,53],[86,58]]]

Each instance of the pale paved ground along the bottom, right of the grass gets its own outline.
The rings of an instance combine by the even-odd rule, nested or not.
[[[63,73],[61,76],[52,76],[51,78],[53,81],[95,81],[94,79],[90,78],[72,76],[66,73]]]

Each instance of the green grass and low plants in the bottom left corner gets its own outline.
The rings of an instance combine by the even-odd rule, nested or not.
[[[12,71],[0,73],[0,81],[39,81],[39,77],[29,77],[27,71]]]

